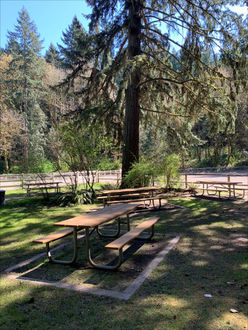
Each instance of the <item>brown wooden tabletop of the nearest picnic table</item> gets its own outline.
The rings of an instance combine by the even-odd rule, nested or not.
[[[77,217],[56,222],[55,226],[64,227],[84,227],[93,228],[100,224],[115,219],[123,214],[127,214],[134,210],[140,204],[116,204],[107,206],[101,210],[97,210],[91,213],[79,215]]]

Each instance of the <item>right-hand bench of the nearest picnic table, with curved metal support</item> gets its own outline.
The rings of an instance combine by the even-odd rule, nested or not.
[[[159,220],[158,217],[152,217],[149,218],[142,223],[140,223],[137,227],[134,229],[126,232],[123,236],[117,238],[115,241],[107,244],[105,246],[106,249],[113,249],[118,250],[118,259],[117,262],[114,265],[103,265],[103,264],[97,264],[93,261],[91,257],[91,252],[89,248],[89,241],[86,240],[86,244],[88,245],[87,251],[88,251],[88,261],[91,266],[98,268],[98,269],[107,269],[107,270],[116,270],[119,268],[123,262],[123,247],[133,241],[135,238],[139,239],[151,239],[154,235],[154,225]],[[151,228],[151,234],[146,237],[140,237],[140,234],[142,234],[146,229]]]

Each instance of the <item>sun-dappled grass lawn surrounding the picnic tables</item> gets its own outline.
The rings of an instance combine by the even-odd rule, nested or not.
[[[184,208],[132,218],[135,224],[158,215],[158,235],[116,272],[88,267],[82,248],[76,266],[40,258],[18,270],[37,279],[121,292],[150,262],[152,249],[180,235],[130,300],[122,301],[7,279],[4,269],[44,251],[31,243],[34,238],[58,230],[53,223],[96,206],[48,207],[39,197],[7,201],[0,208],[0,329],[248,329],[248,203],[191,198],[170,202]],[[98,254],[101,246],[94,248]],[[66,256],[68,247],[59,253]]]

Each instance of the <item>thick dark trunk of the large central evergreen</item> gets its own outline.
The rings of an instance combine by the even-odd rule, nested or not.
[[[141,54],[141,0],[130,1],[128,28],[128,57],[133,60]],[[131,74],[126,90],[125,126],[123,137],[122,177],[134,162],[139,161],[140,69]]]

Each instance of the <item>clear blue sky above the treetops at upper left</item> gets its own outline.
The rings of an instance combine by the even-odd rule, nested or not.
[[[90,8],[84,0],[0,0],[0,47],[5,48],[7,31],[14,31],[18,12],[25,7],[31,20],[37,26],[43,42],[45,54],[50,43],[61,43],[62,31],[65,31],[76,15],[85,29],[87,20],[82,14],[89,14]]]

